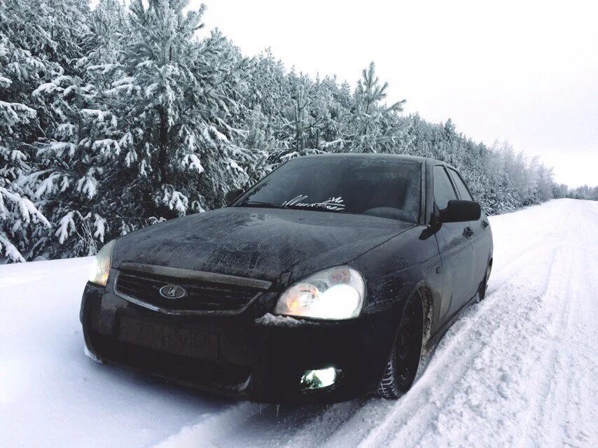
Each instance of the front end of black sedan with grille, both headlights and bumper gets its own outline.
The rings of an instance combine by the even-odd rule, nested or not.
[[[278,288],[132,262],[116,269],[106,246],[81,304],[95,359],[255,402],[338,402],[376,391],[394,324],[391,314],[361,313],[366,285],[354,268]]]

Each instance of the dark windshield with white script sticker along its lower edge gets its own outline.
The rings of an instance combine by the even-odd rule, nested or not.
[[[258,182],[233,207],[363,214],[415,223],[421,165],[384,157],[297,158]]]

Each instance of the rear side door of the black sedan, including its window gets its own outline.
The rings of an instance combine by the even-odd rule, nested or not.
[[[473,201],[473,197],[466,186],[465,181],[457,170],[449,167],[448,172],[452,178],[454,186],[457,187],[457,193],[461,200]],[[488,217],[482,211],[478,221],[470,221],[469,227],[473,234],[471,235],[471,244],[473,245],[473,295],[478,290],[478,286],[486,274],[486,267],[490,256],[492,246],[492,234],[488,223]]]

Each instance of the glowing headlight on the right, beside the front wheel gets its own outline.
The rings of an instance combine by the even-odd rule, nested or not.
[[[316,272],[298,281],[280,296],[274,313],[319,319],[350,319],[359,316],[366,283],[349,266]]]

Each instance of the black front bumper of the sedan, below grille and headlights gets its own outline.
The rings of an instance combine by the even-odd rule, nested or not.
[[[85,286],[80,317],[85,344],[102,362],[267,403],[340,402],[374,393],[396,326],[390,313],[335,322],[272,322],[251,312],[172,316],[139,307],[93,283]],[[131,344],[132,339],[123,338],[131,321],[183,328],[185,335],[202,332],[217,348],[181,353]],[[333,386],[307,391],[300,386],[306,370],[326,367],[340,370]]]

